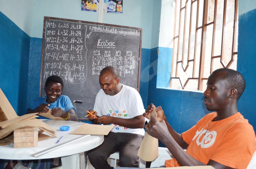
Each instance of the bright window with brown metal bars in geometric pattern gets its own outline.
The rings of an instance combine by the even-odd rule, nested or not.
[[[170,87],[204,91],[218,68],[237,67],[238,0],[176,0]]]

